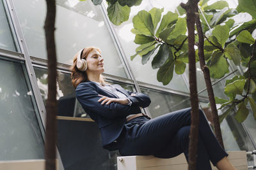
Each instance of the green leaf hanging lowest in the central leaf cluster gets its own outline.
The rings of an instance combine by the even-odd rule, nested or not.
[[[162,82],[163,85],[168,85],[173,77],[174,60],[170,58],[163,66],[157,71],[157,80]]]

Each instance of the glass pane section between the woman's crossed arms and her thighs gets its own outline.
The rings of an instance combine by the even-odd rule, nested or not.
[[[141,87],[141,92],[148,94],[151,99],[148,109],[153,118],[190,106],[189,97],[186,96],[168,94],[143,87]]]

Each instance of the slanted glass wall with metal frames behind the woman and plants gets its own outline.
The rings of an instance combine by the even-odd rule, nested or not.
[[[26,66],[32,65],[29,56],[24,57],[26,66],[24,62],[0,58],[0,160],[44,159],[44,140],[42,138],[42,131],[44,130],[42,123],[38,121],[40,120],[38,108],[44,108],[44,106],[38,104],[38,108],[36,107],[33,90],[40,90],[45,104],[48,93],[47,67],[45,67],[47,62],[44,36],[45,1],[12,1],[15,7],[13,11],[19,19],[19,24],[15,22],[13,24],[22,31],[22,35],[19,36],[25,38],[21,45],[28,47],[28,53],[31,57],[42,59],[40,63],[44,66],[33,65],[36,74],[36,80],[33,80],[26,73]],[[210,0],[209,3],[214,1]],[[232,1],[230,0],[230,3]],[[153,118],[188,108],[190,106],[189,97],[179,95],[181,94],[180,91],[189,92],[188,66],[184,75],[173,73],[173,80],[170,84],[163,86],[156,79],[157,70],[151,67],[152,59],[145,65],[141,64],[141,57],[139,56],[132,61],[130,60],[130,56],[135,53],[138,46],[133,42],[134,34],[130,31],[132,29],[132,17],[140,10],[148,11],[153,7],[164,8],[163,13],[174,11],[180,2],[186,3],[186,0],[172,1],[172,5],[170,5],[169,0],[143,0],[140,6],[131,8],[130,19],[127,22],[118,27],[113,25],[109,28],[109,23],[105,22],[107,14],[103,13],[101,6],[94,6],[92,1],[57,0],[56,46],[58,62],[70,65],[75,53],[84,46],[99,46],[104,57],[106,76],[108,78],[114,76],[115,80],[118,80],[118,82],[111,80],[108,82],[118,83],[124,89],[135,91],[134,84],[136,81],[140,81],[138,83],[141,86],[141,92],[148,94],[152,101],[146,111],[149,111]],[[4,4],[5,0],[0,0],[0,49],[17,51],[16,46],[18,45],[15,45],[16,40],[13,38],[11,29],[12,22],[8,21],[10,16],[8,10],[4,10],[4,6],[6,6]],[[12,4],[10,5],[12,6]],[[116,32],[117,37],[112,32]],[[118,39],[120,46],[117,46],[113,39]],[[22,49],[27,50],[26,48]],[[128,63],[124,64],[119,49],[125,53]],[[135,80],[127,76],[126,71],[128,69],[125,66],[127,64],[131,66]],[[198,91],[200,91],[205,89],[205,83],[199,64],[197,67]],[[233,74],[227,78],[232,76]],[[131,83],[132,81],[134,83]],[[214,81],[216,80],[212,80],[212,82]],[[39,88],[32,90],[30,83],[37,83]],[[158,86],[156,89],[167,87],[175,92],[146,88],[147,84]],[[214,85],[215,96],[225,98],[223,96],[224,85],[225,80]],[[97,124],[90,119],[81,104],[77,102],[68,71],[58,70],[57,86],[58,150],[65,170],[116,169],[118,153],[108,152],[102,148]],[[200,96],[207,96],[207,91],[202,92]],[[205,110],[209,109],[207,101],[202,99],[203,97],[200,100],[200,106]],[[36,99],[36,101],[38,100],[41,99]],[[256,143],[255,129],[256,125],[252,113],[243,124],[237,123],[234,113],[231,113],[221,124],[225,149],[255,150],[252,145],[252,141]],[[251,160],[251,158],[249,159]]]

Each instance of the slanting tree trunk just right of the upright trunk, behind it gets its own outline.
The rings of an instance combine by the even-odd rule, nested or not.
[[[195,8],[196,8],[196,12],[198,12],[197,4],[196,4]],[[196,20],[196,29],[198,32],[198,57],[199,57],[199,61],[200,61],[200,67],[204,73],[204,80],[205,80],[208,97],[209,97],[209,101],[210,101],[210,105],[211,105],[211,113],[212,113],[212,122],[214,124],[214,132],[215,132],[215,136],[218,139],[220,145],[224,148],[223,140],[222,140],[222,136],[221,136],[220,120],[218,117],[218,111],[216,108],[216,103],[215,103],[215,99],[214,99],[214,93],[213,93],[212,83],[211,83],[211,78],[210,78],[210,71],[209,71],[209,67],[207,67],[205,64],[204,33],[202,31],[202,25],[201,25],[200,17],[199,17],[198,13],[196,15],[195,20]]]

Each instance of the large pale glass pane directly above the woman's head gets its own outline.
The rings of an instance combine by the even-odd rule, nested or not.
[[[47,59],[45,48],[44,0],[14,0],[20,27],[33,57]],[[74,55],[83,47],[99,46],[108,74],[127,78],[124,64],[111,39],[99,6],[92,1],[58,0],[56,13],[56,46],[58,62],[72,64]]]

